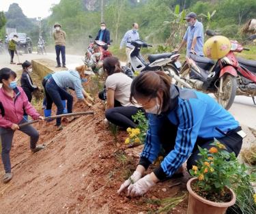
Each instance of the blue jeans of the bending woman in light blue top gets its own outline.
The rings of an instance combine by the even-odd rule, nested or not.
[[[70,93],[61,89],[52,77],[47,81],[45,88],[51,100],[57,106],[57,115],[63,114],[64,107],[61,100],[67,100],[68,113],[72,113],[73,97]],[[56,125],[61,125],[61,118],[56,119]]]

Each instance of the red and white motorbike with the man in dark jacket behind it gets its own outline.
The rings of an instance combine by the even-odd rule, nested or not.
[[[92,36],[89,35],[89,39],[92,39]],[[113,40],[111,40],[112,42]],[[83,60],[86,65],[89,65],[91,55],[94,54],[94,47],[98,46],[100,48],[101,57],[100,60],[104,60],[106,57],[111,57],[111,52],[108,50],[109,46],[100,40],[94,40],[89,43],[87,50],[85,51],[85,59]]]

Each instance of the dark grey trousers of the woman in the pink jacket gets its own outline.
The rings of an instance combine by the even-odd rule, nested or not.
[[[25,123],[25,119],[23,119],[19,124]],[[25,127],[21,127],[20,132],[23,132],[30,136],[30,149],[35,149],[36,143],[39,139],[38,131],[33,128],[31,125],[26,125]],[[10,151],[12,148],[12,139],[14,137],[14,131],[11,128],[0,127],[0,136],[1,136],[1,144],[2,144],[2,162],[3,167],[5,169],[5,173],[11,172],[11,161],[10,161]]]

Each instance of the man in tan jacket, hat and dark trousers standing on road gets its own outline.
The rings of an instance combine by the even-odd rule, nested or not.
[[[55,50],[56,50],[56,60],[57,66],[61,67],[61,62],[59,60],[59,55],[61,53],[62,58],[62,67],[66,67],[66,33],[61,30],[61,25],[56,22],[54,25],[55,32],[53,33],[53,37],[55,40]]]

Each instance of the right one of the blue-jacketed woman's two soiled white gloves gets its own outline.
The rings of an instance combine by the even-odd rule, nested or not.
[[[145,177],[139,179],[139,181],[128,187],[128,196],[142,196],[154,185],[156,185],[156,183],[152,181],[150,174],[147,174]]]

